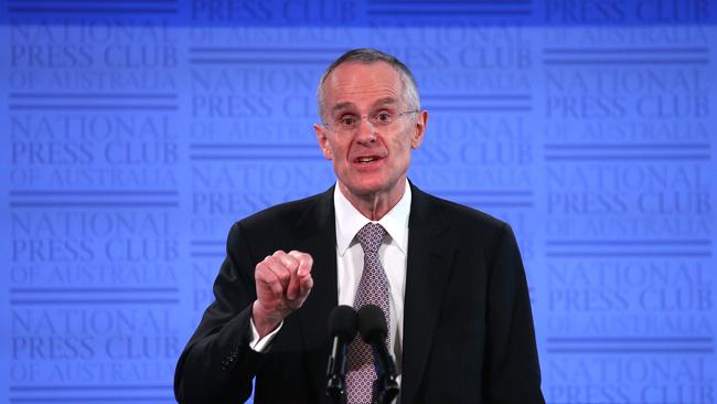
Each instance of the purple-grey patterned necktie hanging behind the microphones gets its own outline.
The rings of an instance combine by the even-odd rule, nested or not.
[[[356,238],[364,251],[364,269],[353,306],[356,310],[366,305],[378,306],[386,317],[386,326],[390,327],[388,278],[378,259],[378,247],[381,247],[385,235],[386,230],[377,223],[368,223],[356,233]],[[386,338],[386,347],[390,347],[390,332]],[[371,345],[365,343],[361,336],[356,336],[349,347],[349,372],[346,374],[349,404],[371,403],[374,380],[376,380],[376,370]]]

